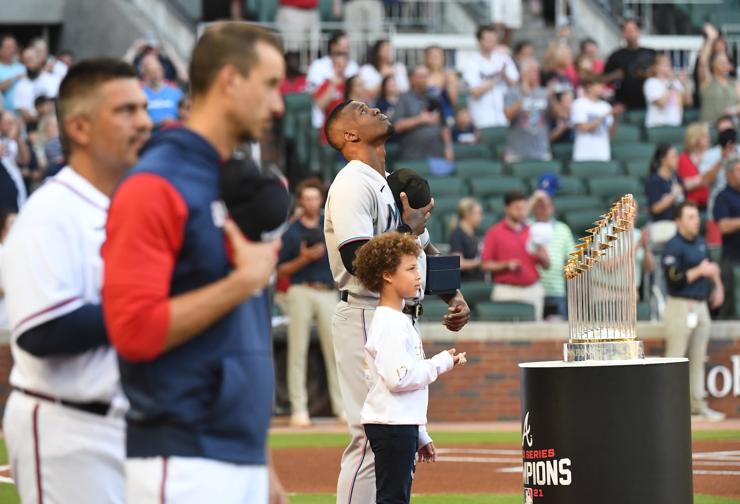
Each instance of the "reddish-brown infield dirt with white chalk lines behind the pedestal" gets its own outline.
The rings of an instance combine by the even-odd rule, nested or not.
[[[740,440],[696,441],[692,447],[694,491],[740,498]],[[415,494],[522,491],[521,446],[445,446],[438,451],[437,463],[417,468]],[[342,448],[276,449],[272,458],[286,491],[332,494],[342,452]]]

